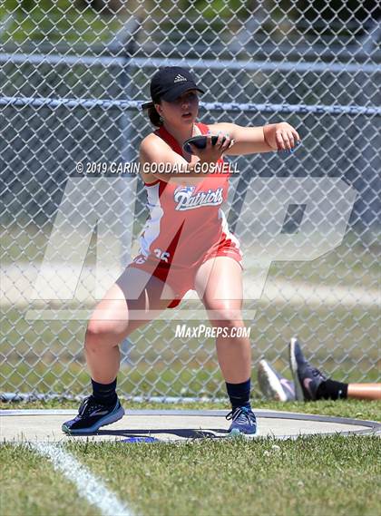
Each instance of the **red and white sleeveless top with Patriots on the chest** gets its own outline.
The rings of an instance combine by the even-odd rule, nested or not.
[[[207,134],[208,126],[196,123],[201,134]],[[171,149],[181,156],[178,141],[164,127],[155,134],[166,141]],[[222,168],[223,160],[217,163],[220,169],[205,175],[197,185],[180,186],[160,178],[148,184],[147,208],[149,217],[140,237],[140,257],[135,263],[157,260],[161,266],[191,268],[196,266],[220,242],[239,249],[239,241],[230,233],[224,212],[221,209],[228,199],[229,168]],[[221,170],[221,171],[219,171]]]

